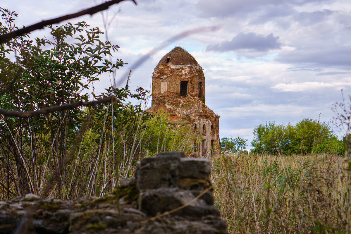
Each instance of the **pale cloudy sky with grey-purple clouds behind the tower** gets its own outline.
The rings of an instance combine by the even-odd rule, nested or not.
[[[30,25],[94,6],[100,0],[4,1]],[[330,121],[331,105],[351,91],[351,1],[344,0],[137,0],[111,7],[108,39],[121,48],[114,59],[129,64],[172,36],[199,27],[218,27],[181,38],[146,60],[131,87],[150,88],[159,60],[182,46],[205,73],[208,107],[220,118],[220,137],[252,139],[260,123],[296,123],[303,118]],[[101,14],[85,20],[104,28]],[[47,35],[40,30],[34,35]],[[124,72],[120,71],[117,76]],[[110,85],[101,78],[96,86]],[[250,143],[248,144],[250,146]]]

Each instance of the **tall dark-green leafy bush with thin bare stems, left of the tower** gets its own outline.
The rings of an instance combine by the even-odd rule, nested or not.
[[[15,32],[17,14],[0,11],[2,35]],[[87,93],[103,73],[124,65],[106,58],[119,46],[101,41],[99,28],[79,22],[47,29],[52,38],[32,40],[23,34],[0,47],[0,87],[5,91],[0,108],[19,114],[0,118],[3,199],[29,192],[74,198],[112,191],[128,175],[148,119],[142,104],[127,102],[144,102],[148,92],[137,88],[132,94],[128,81],[124,88]]]

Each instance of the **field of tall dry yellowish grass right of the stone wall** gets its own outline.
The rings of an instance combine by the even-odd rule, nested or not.
[[[229,233],[345,233],[346,163],[337,155],[213,156]]]

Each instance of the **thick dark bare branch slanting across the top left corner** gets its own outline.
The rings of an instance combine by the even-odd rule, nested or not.
[[[121,1],[124,1],[124,0],[107,1],[107,2],[105,2],[103,4],[98,5],[98,6],[90,7],[90,8],[84,9],[82,11],[73,13],[73,14],[67,14],[67,15],[60,16],[60,17],[57,17],[57,18],[54,18],[54,19],[43,20],[43,21],[41,21],[41,22],[39,22],[37,24],[33,24],[33,25],[28,26],[28,27],[24,27],[24,28],[18,29],[16,31],[12,31],[12,32],[3,34],[3,35],[0,36],[0,44],[8,42],[9,40],[15,38],[16,36],[20,36],[20,35],[23,35],[23,34],[27,34],[27,33],[33,32],[33,31],[35,31],[37,29],[44,28],[47,25],[58,24],[59,22],[62,22],[62,21],[65,21],[65,20],[69,20],[69,19],[73,19],[73,18],[77,18],[77,17],[82,16],[82,15],[93,15],[93,14],[98,13],[100,11],[107,10],[110,6],[112,6],[114,4],[118,4]],[[131,1],[133,1],[135,4],[137,4],[135,2],[135,0],[131,0]]]

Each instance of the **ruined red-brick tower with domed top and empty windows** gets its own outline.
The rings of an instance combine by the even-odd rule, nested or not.
[[[152,75],[149,113],[163,111],[170,124],[187,124],[200,136],[194,152],[219,152],[219,116],[205,104],[205,75],[191,54],[175,47]]]

